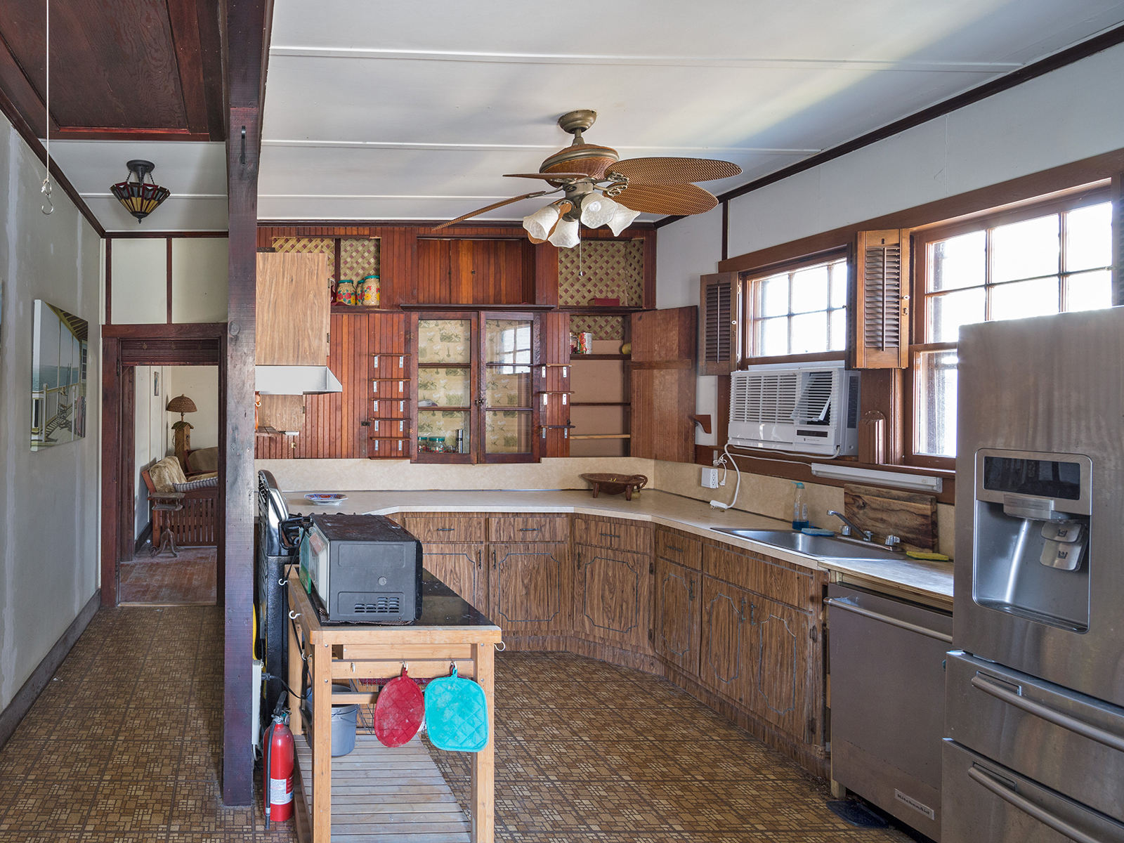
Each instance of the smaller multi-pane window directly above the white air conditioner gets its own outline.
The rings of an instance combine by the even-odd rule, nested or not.
[[[745,297],[752,357],[846,350],[845,256],[750,278]]]

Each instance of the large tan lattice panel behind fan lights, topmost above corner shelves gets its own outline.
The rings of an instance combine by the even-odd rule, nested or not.
[[[579,271],[586,274],[579,278]],[[559,250],[559,305],[586,307],[590,299],[620,299],[623,306],[643,307],[643,241],[582,241],[580,247]]]

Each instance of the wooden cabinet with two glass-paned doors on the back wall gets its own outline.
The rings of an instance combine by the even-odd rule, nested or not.
[[[417,461],[537,460],[538,317],[457,311],[415,318]]]

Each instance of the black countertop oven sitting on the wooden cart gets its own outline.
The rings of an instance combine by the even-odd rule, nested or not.
[[[413,623],[422,616],[422,543],[381,515],[314,515],[300,581],[328,620]]]

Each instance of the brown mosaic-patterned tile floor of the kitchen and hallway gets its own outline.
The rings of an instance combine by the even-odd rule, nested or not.
[[[221,642],[217,607],[99,611],[0,750],[0,843],[296,840],[221,806]],[[569,653],[496,672],[500,841],[908,841],[662,679]],[[434,759],[466,806],[469,756]]]

